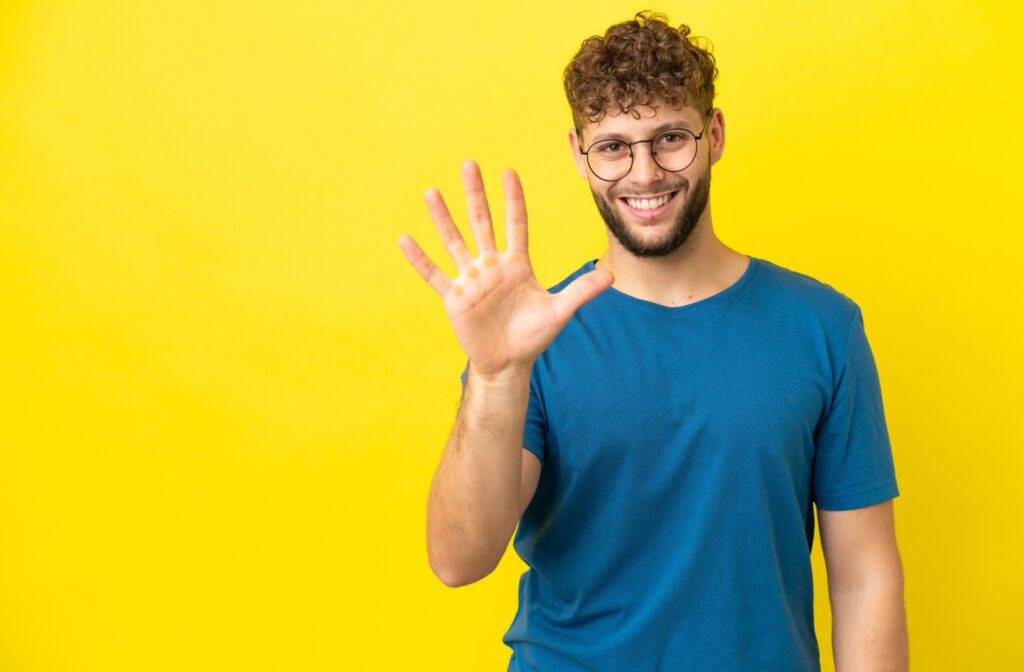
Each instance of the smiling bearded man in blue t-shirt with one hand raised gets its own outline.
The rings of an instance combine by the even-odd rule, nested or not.
[[[426,195],[458,278],[399,240],[469,360],[430,565],[477,581],[518,524],[510,670],[819,670],[813,502],[837,669],[905,670],[899,491],[863,318],[715,236],[725,121],[688,33],[641,13],[565,71],[569,144],[608,229],[599,259],[544,289],[518,177],[503,175],[499,252],[472,162],[475,258]]]

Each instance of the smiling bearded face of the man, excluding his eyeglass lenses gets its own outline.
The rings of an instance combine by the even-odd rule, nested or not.
[[[669,128],[686,128],[699,134],[703,119],[692,108],[674,110],[666,106],[640,108],[640,119],[629,114],[608,115],[596,124],[587,124],[582,130],[582,149],[604,138],[627,142],[646,140]],[[716,113],[713,113],[716,114]],[[590,182],[594,202],[608,230],[631,254],[638,257],[658,257],[678,250],[696,227],[708,207],[711,192],[711,165],[709,129],[697,140],[693,162],[679,172],[670,172],[654,163],[650,143],[633,145],[633,167],[630,172],[613,182],[594,175],[586,165],[586,157],[574,148],[578,166]],[[572,134],[574,135],[574,134]],[[650,207],[656,199],[669,197],[659,207]],[[638,203],[646,199],[648,203]],[[651,203],[653,201],[654,203]],[[647,205],[647,208],[643,206]],[[634,207],[638,206],[638,207]]]

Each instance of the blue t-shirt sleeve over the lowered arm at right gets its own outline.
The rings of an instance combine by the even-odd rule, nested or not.
[[[814,432],[819,509],[844,510],[899,496],[878,369],[858,306],[831,404]]]

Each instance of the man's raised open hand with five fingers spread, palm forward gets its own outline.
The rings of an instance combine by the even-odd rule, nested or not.
[[[490,211],[476,163],[463,163],[462,180],[476,257],[470,255],[440,192],[430,188],[424,197],[459,276],[449,278],[409,235],[398,239],[398,246],[443,299],[456,337],[476,374],[494,376],[510,368],[528,368],[577,309],[610,287],[614,279],[607,270],[593,270],[573,280],[561,292],[549,293],[538,283],[529,262],[526,204],[515,171],[509,169],[502,174],[507,239],[504,252],[495,246]]]

